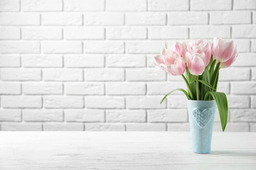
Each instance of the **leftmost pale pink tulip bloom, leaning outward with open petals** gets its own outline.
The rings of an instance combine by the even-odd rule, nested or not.
[[[154,63],[169,75],[182,75],[186,69],[184,59],[177,53],[163,48],[161,55],[154,56]]]

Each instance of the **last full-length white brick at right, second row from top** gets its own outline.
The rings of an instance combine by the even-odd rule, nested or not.
[[[210,12],[210,24],[251,24],[250,11]]]

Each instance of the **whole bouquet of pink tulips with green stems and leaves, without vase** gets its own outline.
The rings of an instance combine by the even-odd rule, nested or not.
[[[187,91],[177,88],[167,93],[165,98],[179,90],[188,100],[215,100],[219,109],[221,126],[224,131],[228,120],[228,102],[223,92],[217,92],[219,70],[229,67],[238,56],[234,41],[213,39],[213,42],[174,42],[154,56],[154,64],[169,75],[181,75]],[[185,74],[185,75],[184,75]]]

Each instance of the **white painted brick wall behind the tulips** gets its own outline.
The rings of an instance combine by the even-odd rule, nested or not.
[[[256,131],[255,24],[255,0],[1,0],[1,130],[189,131],[182,93],[160,105],[182,78],[150,60],[223,37],[240,53],[219,77],[226,131]]]

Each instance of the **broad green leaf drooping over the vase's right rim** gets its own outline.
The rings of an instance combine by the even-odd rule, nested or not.
[[[211,95],[216,101],[219,116],[221,118],[221,127],[224,131],[226,128],[226,122],[228,122],[228,100],[226,99],[226,94],[223,92],[207,92],[205,94],[205,100],[208,95]]]

